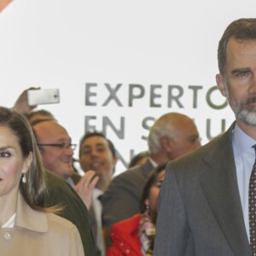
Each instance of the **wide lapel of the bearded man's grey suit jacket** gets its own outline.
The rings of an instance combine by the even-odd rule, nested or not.
[[[201,175],[201,187],[234,255],[250,255],[236,179],[233,127],[216,140],[212,152],[203,157],[207,172]]]

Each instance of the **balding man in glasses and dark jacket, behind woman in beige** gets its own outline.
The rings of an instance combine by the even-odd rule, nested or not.
[[[58,124],[55,119],[35,119],[31,125],[44,167],[55,174],[50,175],[47,172],[47,184],[50,192],[46,197],[46,205],[52,206],[56,202],[64,205],[62,213],[65,215],[62,216],[77,225],[83,241],[85,255],[95,255],[95,248],[90,234],[88,211],[84,201],[75,192],[71,179],[74,173],[74,144],[71,143],[71,138],[66,129]],[[59,177],[59,181],[56,181],[56,175]],[[62,183],[60,178],[62,178]],[[63,191],[63,183],[67,184],[67,191]]]

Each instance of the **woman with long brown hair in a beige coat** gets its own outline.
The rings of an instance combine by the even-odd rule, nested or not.
[[[44,169],[26,119],[0,107],[0,255],[83,256],[79,231],[42,208]]]

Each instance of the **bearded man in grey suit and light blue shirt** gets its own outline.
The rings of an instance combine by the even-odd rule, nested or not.
[[[256,255],[248,187],[256,144],[256,19],[233,21],[218,44],[218,89],[236,122],[166,167],[154,256]]]

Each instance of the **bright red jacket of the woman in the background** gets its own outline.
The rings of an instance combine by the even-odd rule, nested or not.
[[[136,214],[117,224],[113,224],[110,238],[113,241],[108,248],[107,256],[143,256],[142,244],[138,237],[141,214]]]

